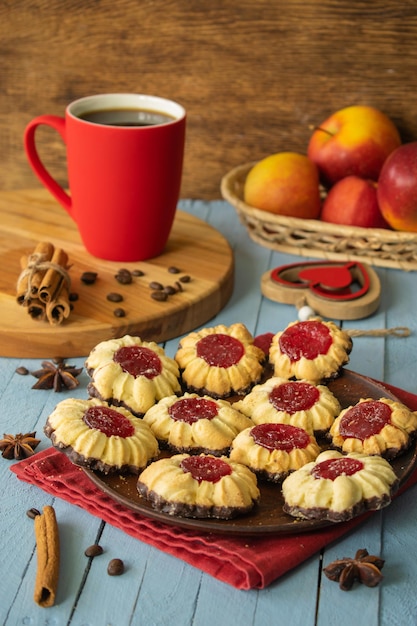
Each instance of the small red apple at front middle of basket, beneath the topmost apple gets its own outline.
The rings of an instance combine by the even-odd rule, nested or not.
[[[359,176],[346,176],[333,185],[320,219],[348,226],[389,228],[379,209],[376,183]]]

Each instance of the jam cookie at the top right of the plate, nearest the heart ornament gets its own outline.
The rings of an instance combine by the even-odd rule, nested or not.
[[[274,375],[321,382],[338,376],[348,363],[352,339],[333,322],[292,322],[274,335],[269,361]]]

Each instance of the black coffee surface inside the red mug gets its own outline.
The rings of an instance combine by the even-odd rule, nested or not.
[[[157,126],[174,121],[174,117],[146,109],[103,109],[78,115],[81,120],[105,126]]]

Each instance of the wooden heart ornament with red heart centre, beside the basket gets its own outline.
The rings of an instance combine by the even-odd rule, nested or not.
[[[376,311],[381,285],[377,273],[363,263],[310,261],[265,272],[261,291],[276,302],[308,305],[319,315],[352,320]]]

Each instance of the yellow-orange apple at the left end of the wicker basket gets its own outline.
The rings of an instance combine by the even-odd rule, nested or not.
[[[317,167],[297,152],[271,154],[249,171],[244,200],[270,213],[316,219],[321,209]]]

